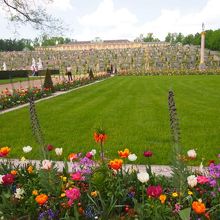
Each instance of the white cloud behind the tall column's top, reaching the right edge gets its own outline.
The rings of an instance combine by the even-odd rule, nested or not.
[[[220,24],[220,1],[208,0],[206,5],[197,13],[181,14],[179,10],[162,9],[160,16],[153,21],[140,26],[140,33],[145,30],[152,32],[160,39],[164,39],[168,32],[181,32],[183,34],[201,31],[202,22],[206,29],[217,29]]]

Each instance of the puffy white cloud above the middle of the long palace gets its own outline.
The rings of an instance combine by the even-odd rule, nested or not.
[[[122,37],[123,30],[127,33],[137,23],[137,17],[127,8],[116,9],[113,0],[103,0],[94,12],[78,18],[78,22],[83,29],[77,36],[79,39],[93,39],[97,36],[113,39]]]

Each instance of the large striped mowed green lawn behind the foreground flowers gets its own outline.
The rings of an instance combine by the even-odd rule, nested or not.
[[[129,148],[138,163],[146,163],[144,150],[153,151],[153,164],[169,164],[172,151],[167,96],[175,93],[182,147],[196,149],[194,164],[216,159],[220,153],[220,76],[114,77],[99,84],[36,104],[46,143],[70,152],[87,152],[99,145],[93,132],[106,129],[106,156]],[[22,147],[39,159],[30,129],[28,108],[0,115],[0,145],[11,146],[11,157],[23,156]],[[52,152],[52,158],[58,159]]]

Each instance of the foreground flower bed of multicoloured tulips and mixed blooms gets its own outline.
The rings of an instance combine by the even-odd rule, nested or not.
[[[181,186],[172,177],[156,176],[149,165],[153,153],[143,152],[146,171],[138,171],[137,156],[129,149],[118,158],[106,159],[106,135],[94,134],[100,157],[93,149],[86,154],[70,153],[72,172],[63,172],[50,160],[39,167],[24,159],[20,166],[0,165],[0,217],[2,219],[218,219],[220,216],[220,164],[210,162],[196,171],[185,170]],[[11,148],[0,148],[7,157]],[[13,150],[13,148],[12,148]],[[23,151],[28,155],[30,146]],[[48,155],[62,148],[46,147]],[[189,150],[184,161],[196,158]],[[219,158],[217,158],[218,160]],[[130,169],[123,164],[131,163]],[[183,170],[182,170],[183,171]],[[180,171],[180,172],[182,172]],[[178,171],[179,172],[179,171]],[[178,174],[178,173],[177,173]],[[183,176],[181,176],[182,178]]]

